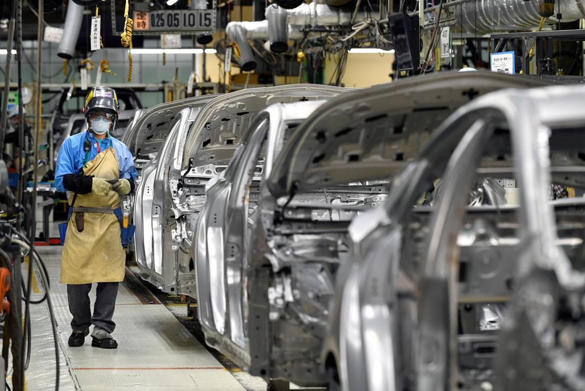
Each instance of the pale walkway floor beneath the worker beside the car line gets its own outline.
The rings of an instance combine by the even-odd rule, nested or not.
[[[113,317],[116,330],[112,336],[118,341],[118,349],[94,348],[90,336],[82,347],[70,348],[67,339],[71,315],[66,286],[59,283],[61,250],[61,246],[38,247],[49,271],[59,328],[60,390],[249,389],[240,385],[167,306],[160,301],[145,304],[128,283],[120,284]],[[33,299],[41,297],[39,280],[37,273],[33,275]],[[95,286],[90,297],[93,303]],[[53,390],[56,363],[46,303],[31,307],[31,320],[32,355],[26,371],[26,389]]]

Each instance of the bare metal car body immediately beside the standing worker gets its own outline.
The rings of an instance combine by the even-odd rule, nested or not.
[[[142,167],[136,196],[142,200],[134,206],[137,231],[142,231],[136,235],[141,239],[135,239],[142,278],[168,293],[195,297],[190,248],[205,203],[205,185],[225,170],[253,117],[273,103],[320,100],[342,91],[339,87],[299,84],[252,88],[211,99],[199,97],[196,112],[194,108],[183,109],[170,118],[159,109],[156,115],[163,117],[161,122],[171,121],[168,129],[175,129],[164,143],[159,141],[162,135],[150,137],[149,129],[133,132],[129,147],[137,153],[137,162],[144,155],[156,156],[156,162]],[[208,101],[202,104],[205,99]],[[158,126],[156,121],[143,118],[137,126]]]

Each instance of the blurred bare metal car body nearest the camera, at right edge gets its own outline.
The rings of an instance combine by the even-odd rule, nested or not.
[[[583,87],[477,98],[352,222],[324,353],[336,386],[583,389],[582,348],[561,337],[579,328],[559,311],[583,297],[585,201],[549,201],[551,183],[585,190],[583,102]],[[514,177],[520,205],[467,206],[478,176]],[[438,177],[435,205],[413,208]]]

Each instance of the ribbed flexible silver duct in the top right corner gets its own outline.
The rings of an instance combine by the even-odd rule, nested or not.
[[[563,22],[583,18],[576,0],[556,0],[555,14],[559,6]],[[454,6],[453,11],[457,24],[469,33],[535,28],[541,20],[536,0],[472,0]],[[558,21],[556,15],[548,20],[550,23]]]

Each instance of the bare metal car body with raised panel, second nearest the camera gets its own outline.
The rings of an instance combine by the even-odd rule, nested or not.
[[[247,171],[257,162],[236,164],[229,194],[209,188],[229,202],[205,205],[193,246],[207,343],[253,375],[323,385],[322,342],[349,221],[385,200],[387,179],[449,114],[511,80],[442,74],[348,92],[299,126],[259,191]]]

